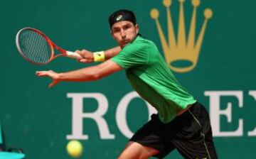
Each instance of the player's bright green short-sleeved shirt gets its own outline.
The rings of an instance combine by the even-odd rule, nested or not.
[[[168,123],[188,104],[196,102],[178,83],[150,40],[137,36],[111,60],[126,70],[132,87],[156,108],[163,123]]]

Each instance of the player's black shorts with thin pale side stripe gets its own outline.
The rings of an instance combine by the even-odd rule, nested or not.
[[[218,158],[208,112],[198,102],[168,124],[153,114],[130,141],[159,150],[156,158],[164,158],[175,148],[183,158]]]

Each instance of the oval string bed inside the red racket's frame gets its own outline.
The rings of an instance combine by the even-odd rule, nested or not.
[[[25,30],[18,36],[21,54],[31,62],[47,63],[51,57],[51,49],[46,38],[39,33]]]

